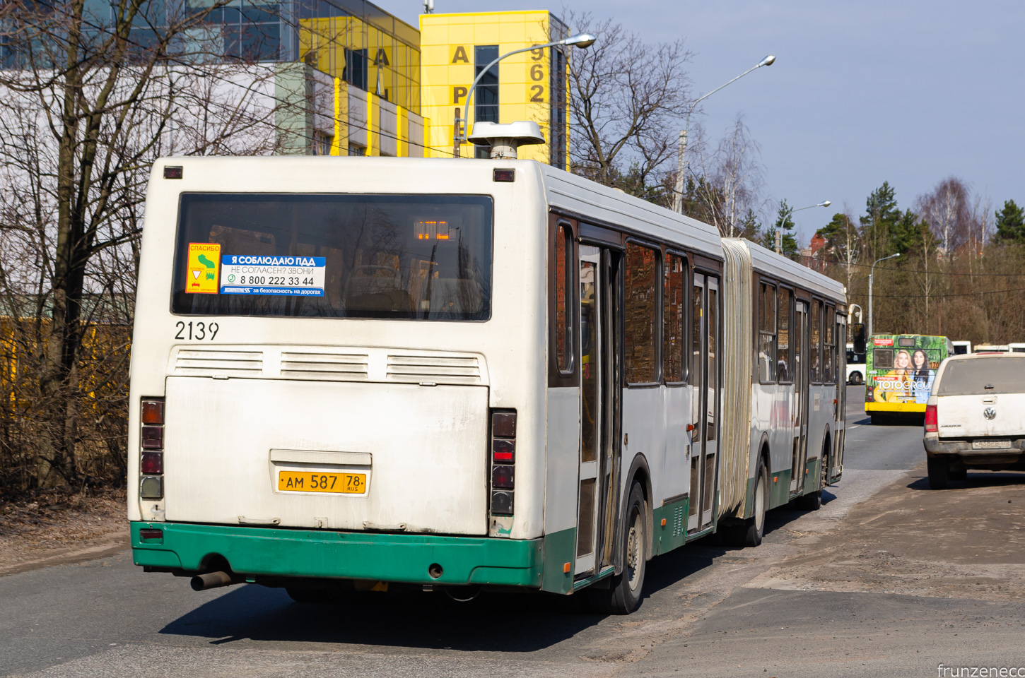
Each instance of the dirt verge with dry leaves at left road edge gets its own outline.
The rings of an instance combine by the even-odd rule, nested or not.
[[[0,577],[102,558],[127,546],[123,490],[0,501]]]

